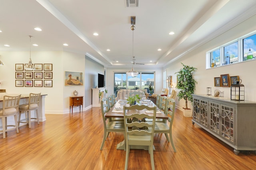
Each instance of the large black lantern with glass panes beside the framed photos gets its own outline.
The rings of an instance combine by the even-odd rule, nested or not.
[[[232,84],[230,87],[230,100],[244,100],[244,84],[241,79],[236,79],[236,84]]]

